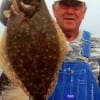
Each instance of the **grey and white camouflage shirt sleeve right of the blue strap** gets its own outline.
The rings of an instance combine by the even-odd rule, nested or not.
[[[91,58],[90,64],[97,80],[100,73],[100,38],[93,37],[91,41]]]

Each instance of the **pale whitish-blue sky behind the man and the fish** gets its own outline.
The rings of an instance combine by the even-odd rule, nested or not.
[[[0,4],[1,4],[0,0]],[[54,18],[52,13],[52,3],[54,0],[45,0],[50,11],[51,16]],[[100,0],[87,0],[87,12],[82,22],[81,29],[90,31],[94,36],[100,37]],[[4,26],[0,23],[0,35],[4,31]]]

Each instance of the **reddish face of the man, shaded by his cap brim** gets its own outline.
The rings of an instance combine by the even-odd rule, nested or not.
[[[57,23],[64,32],[78,30],[84,18],[85,4],[76,0],[57,1],[53,5]]]

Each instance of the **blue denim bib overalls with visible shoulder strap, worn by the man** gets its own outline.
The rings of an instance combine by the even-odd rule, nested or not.
[[[87,63],[91,51],[90,33],[84,31],[82,55],[85,60],[64,61],[57,85],[48,100],[100,100],[100,88]]]

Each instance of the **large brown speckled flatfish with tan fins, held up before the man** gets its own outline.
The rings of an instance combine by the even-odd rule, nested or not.
[[[0,44],[3,70],[32,100],[47,100],[66,54],[66,39],[54,25],[44,0],[17,2],[25,16],[12,13],[9,17]],[[28,11],[20,2],[33,8]]]

